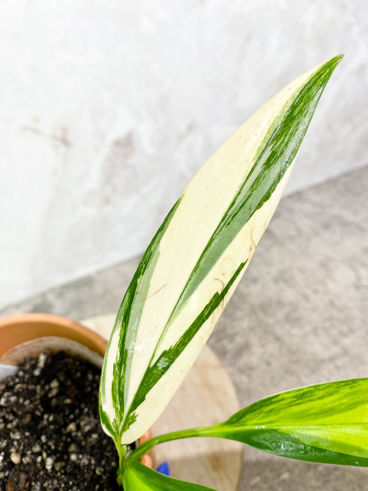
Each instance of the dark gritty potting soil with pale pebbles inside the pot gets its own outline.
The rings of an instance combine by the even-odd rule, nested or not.
[[[115,491],[102,430],[100,369],[63,352],[27,358],[0,381],[0,491]]]

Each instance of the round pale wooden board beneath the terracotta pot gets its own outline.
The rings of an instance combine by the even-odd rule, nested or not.
[[[105,338],[114,314],[82,321]],[[171,431],[207,426],[224,421],[239,409],[233,382],[218,357],[205,346],[169,405],[152,427],[153,436]],[[188,438],[162,443],[155,448],[156,465],[170,464],[179,479],[219,491],[236,491],[242,444],[221,438]]]

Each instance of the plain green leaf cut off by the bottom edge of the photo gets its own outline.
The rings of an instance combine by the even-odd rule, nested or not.
[[[124,491],[215,491],[199,484],[164,476],[135,460],[130,461],[123,476]]]

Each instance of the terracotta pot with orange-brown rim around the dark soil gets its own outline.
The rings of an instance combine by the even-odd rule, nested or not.
[[[21,346],[20,346],[21,345]],[[52,314],[21,314],[0,318],[0,363],[17,365],[26,356],[39,355],[43,349],[62,349],[102,366],[107,341],[79,322]],[[151,431],[139,438],[143,443]],[[153,466],[152,455],[141,462]]]

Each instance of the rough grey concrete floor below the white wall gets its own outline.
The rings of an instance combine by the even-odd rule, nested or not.
[[[82,319],[117,310],[137,260],[0,315]],[[210,337],[242,406],[280,390],[368,375],[368,167],[281,201]],[[245,448],[239,490],[366,491],[368,469]]]

